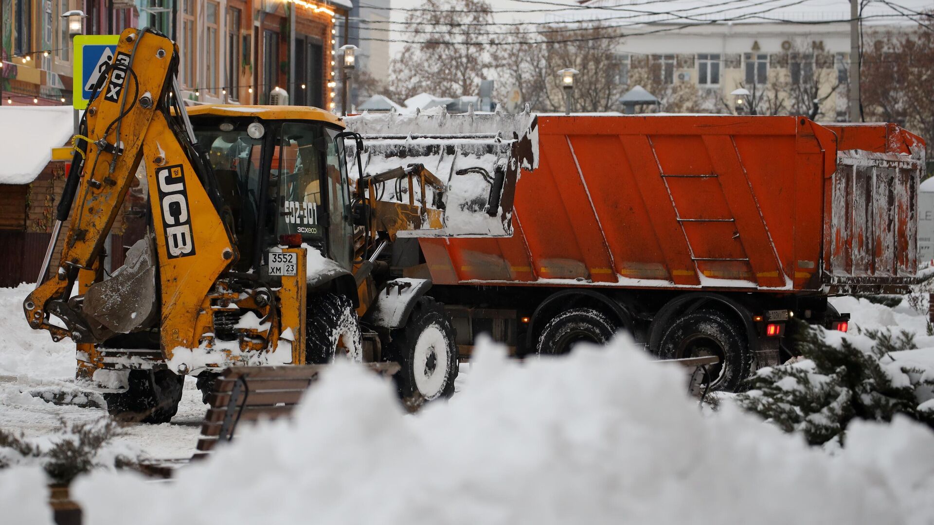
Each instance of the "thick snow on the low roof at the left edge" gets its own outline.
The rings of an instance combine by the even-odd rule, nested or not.
[[[29,184],[74,131],[72,106],[0,107],[0,184]]]

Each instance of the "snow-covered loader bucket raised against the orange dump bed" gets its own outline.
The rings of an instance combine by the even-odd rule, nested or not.
[[[427,202],[444,210],[443,228],[400,232],[409,237],[511,236],[513,198],[520,169],[538,165],[538,123],[530,112],[517,114],[446,112],[347,117],[347,129],[363,138],[364,177],[421,163],[445,184],[441,199],[426,188]],[[356,145],[347,141],[347,163],[356,166]],[[357,177],[351,168],[351,178]],[[379,200],[420,201],[420,189],[387,182]]]

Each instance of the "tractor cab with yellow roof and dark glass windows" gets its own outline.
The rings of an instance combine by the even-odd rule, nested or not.
[[[263,255],[308,245],[349,271],[353,233],[344,127],[305,106],[188,108],[235,234],[234,269],[268,275]]]

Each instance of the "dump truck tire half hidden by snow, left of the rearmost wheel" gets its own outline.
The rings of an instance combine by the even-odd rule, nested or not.
[[[613,338],[616,325],[600,310],[579,306],[560,312],[545,324],[538,336],[538,355],[562,355],[582,342],[604,345]]]

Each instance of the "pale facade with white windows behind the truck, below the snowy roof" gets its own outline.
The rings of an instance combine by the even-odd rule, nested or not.
[[[645,84],[677,110],[748,112],[729,93],[753,93],[759,114],[808,114],[845,121],[849,95],[848,23],[735,23],[698,25],[677,32],[627,38],[618,47],[619,82]],[[693,88],[696,98],[685,93]],[[667,96],[666,96],[667,95]],[[748,105],[748,98],[744,100]],[[672,110],[662,106],[661,109]]]

